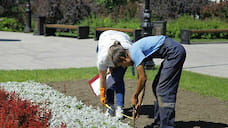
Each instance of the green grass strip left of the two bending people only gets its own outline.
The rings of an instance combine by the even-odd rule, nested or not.
[[[69,68],[49,70],[0,70],[0,81],[56,82],[64,80],[88,79],[97,74],[96,68]]]

